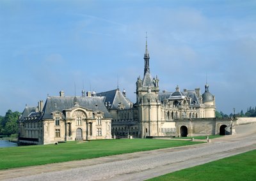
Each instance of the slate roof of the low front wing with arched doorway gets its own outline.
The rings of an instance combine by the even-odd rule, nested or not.
[[[52,119],[51,113],[54,111],[62,112],[63,110],[67,110],[69,108],[74,107],[75,103],[77,102],[79,106],[87,108],[88,110],[100,110],[104,112],[104,118],[110,118],[111,115],[108,112],[106,106],[104,105],[104,97],[83,97],[83,96],[51,96],[47,97],[45,101],[45,105],[43,108],[43,119]],[[97,106],[96,106],[97,105]]]

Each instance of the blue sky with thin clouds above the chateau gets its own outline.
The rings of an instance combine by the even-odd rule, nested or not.
[[[145,36],[161,91],[207,81],[224,113],[256,106],[256,1],[0,1],[0,115],[47,95],[125,89]]]

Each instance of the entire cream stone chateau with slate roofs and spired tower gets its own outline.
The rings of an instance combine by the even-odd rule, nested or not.
[[[81,96],[65,96],[60,91],[60,96],[47,96],[45,103],[25,107],[19,119],[19,143],[187,136],[198,130],[191,120],[200,120],[202,125],[205,119],[207,131],[200,129],[198,134],[218,133],[215,97],[209,85],[206,83],[204,94],[199,88],[180,91],[179,86],[174,92],[159,92],[159,79],[150,75],[149,59],[146,41],[144,75],[136,80],[136,103],[119,89],[100,93],[83,90]],[[179,125],[180,120],[184,124]]]

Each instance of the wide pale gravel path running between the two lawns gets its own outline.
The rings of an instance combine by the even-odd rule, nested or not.
[[[145,180],[256,149],[256,124],[211,143],[0,171],[0,180]]]

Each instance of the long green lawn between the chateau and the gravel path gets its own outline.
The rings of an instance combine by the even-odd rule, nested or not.
[[[0,148],[0,170],[47,163],[90,159],[202,142],[156,139],[68,141],[58,145]]]

